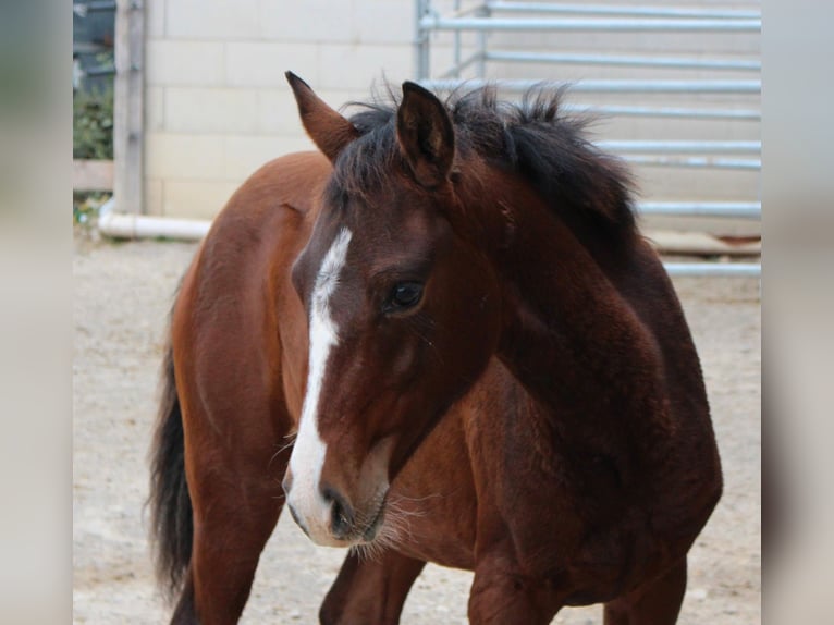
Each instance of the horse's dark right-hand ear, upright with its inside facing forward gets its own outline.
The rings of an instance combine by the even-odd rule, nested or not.
[[[434,94],[415,83],[403,83],[396,137],[418,183],[431,188],[449,179],[455,133],[446,108]]]

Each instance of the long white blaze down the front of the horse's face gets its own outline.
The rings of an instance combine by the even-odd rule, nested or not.
[[[316,541],[327,540],[330,503],[321,497],[319,480],[327,445],[319,436],[318,417],[321,384],[330,352],[339,343],[339,328],[330,312],[330,298],[339,284],[345,264],[351,231],[343,228],[330,246],[316,275],[310,302],[310,354],[307,394],[304,397],[298,436],[295,439],[290,469],[293,482],[289,503]]]

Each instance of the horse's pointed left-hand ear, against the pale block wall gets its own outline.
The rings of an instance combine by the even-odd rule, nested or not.
[[[307,83],[292,72],[284,75],[293,89],[304,130],[324,156],[331,162],[335,161],[344,147],[359,136],[359,132],[338,111],[324,103]]]

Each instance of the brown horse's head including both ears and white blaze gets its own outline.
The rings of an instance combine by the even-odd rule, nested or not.
[[[287,79],[333,173],[292,271],[309,361],[284,490],[314,541],[361,544],[384,528],[391,481],[495,352],[499,280],[458,225],[463,166],[434,95],[405,83],[395,115],[368,130]]]

